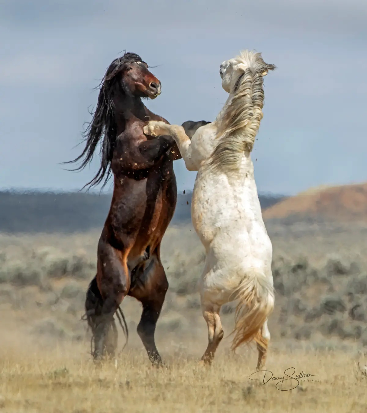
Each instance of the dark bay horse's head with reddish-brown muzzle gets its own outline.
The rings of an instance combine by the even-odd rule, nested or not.
[[[161,94],[160,81],[136,53],[127,52],[123,57],[115,59],[106,71],[106,82],[110,85],[120,83],[125,93],[135,97],[155,99]]]

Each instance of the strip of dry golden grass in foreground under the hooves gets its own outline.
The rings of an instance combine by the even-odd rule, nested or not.
[[[254,386],[249,379],[253,359],[246,356],[219,357],[211,368],[183,355],[166,356],[166,361],[166,369],[156,369],[145,354],[130,352],[98,367],[78,346],[42,354],[5,351],[0,358],[0,409],[7,413],[365,412],[367,377],[345,353],[274,350],[267,365],[274,376],[294,367],[296,374],[303,371],[317,375],[309,380],[319,380],[290,380],[283,385],[270,380]],[[279,389],[290,390],[279,391],[277,383]]]

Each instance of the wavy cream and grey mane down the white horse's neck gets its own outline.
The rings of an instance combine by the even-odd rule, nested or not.
[[[231,90],[232,100],[218,126],[220,141],[209,160],[210,166],[224,171],[237,171],[243,152],[252,151],[263,116],[263,77],[276,68],[253,51],[244,50],[236,59],[245,70]]]

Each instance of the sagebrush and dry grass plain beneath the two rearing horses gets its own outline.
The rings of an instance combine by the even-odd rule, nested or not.
[[[140,304],[127,298],[128,347],[96,368],[88,354],[84,294],[95,272],[98,233],[0,235],[0,411],[317,411],[367,406],[367,243],[358,225],[268,225],[274,245],[276,308],[267,369],[317,376],[253,387],[256,353],[229,354],[232,306],[211,369],[196,281],[203,249],[193,229],[170,228],[162,246],[169,292],[156,330],[167,369],[152,369],[136,334]],[[122,347],[124,337],[120,334]],[[361,354],[362,353],[362,354]],[[357,362],[360,367],[357,367]],[[269,373],[267,378],[269,377]],[[280,388],[280,385],[278,385]]]

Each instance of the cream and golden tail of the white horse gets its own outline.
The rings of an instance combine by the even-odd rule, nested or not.
[[[238,304],[235,313],[235,333],[231,350],[235,351],[243,343],[255,340],[260,346],[267,343],[260,328],[274,308],[274,287],[263,273],[256,269],[247,272],[246,277],[234,292]]]

